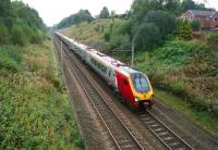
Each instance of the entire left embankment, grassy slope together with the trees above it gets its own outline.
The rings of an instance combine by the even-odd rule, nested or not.
[[[0,0],[0,149],[83,149],[38,13]]]

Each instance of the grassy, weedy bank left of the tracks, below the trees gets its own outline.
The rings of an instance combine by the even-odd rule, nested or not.
[[[0,47],[0,149],[83,148],[49,46]]]

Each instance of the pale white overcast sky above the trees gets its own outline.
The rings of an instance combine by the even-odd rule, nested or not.
[[[38,11],[40,17],[48,26],[59,23],[63,17],[87,9],[93,15],[99,14],[102,7],[109,11],[123,13],[130,10],[133,0],[21,0]],[[204,1],[204,0],[195,0]],[[218,0],[208,0],[210,8],[218,10]]]

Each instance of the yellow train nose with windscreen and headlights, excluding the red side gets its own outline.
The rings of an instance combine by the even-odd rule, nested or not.
[[[155,103],[153,87],[148,77],[141,73],[135,72],[131,74],[131,82],[133,85],[133,93],[135,97],[135,107],[149,108]]]

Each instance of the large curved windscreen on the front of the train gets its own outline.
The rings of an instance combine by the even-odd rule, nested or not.
[[[132,74],[133,85],[138,92],[147,92],[149,90],[149,84],[147,77],[141,73]]]

